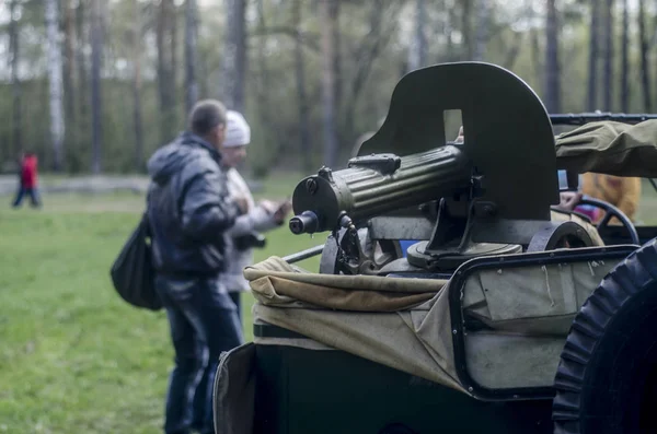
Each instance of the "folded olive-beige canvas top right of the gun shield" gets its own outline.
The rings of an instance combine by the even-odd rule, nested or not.
[[[556,137],[557,167],[576,173],[657,176],[657,120],[590,122]]]

